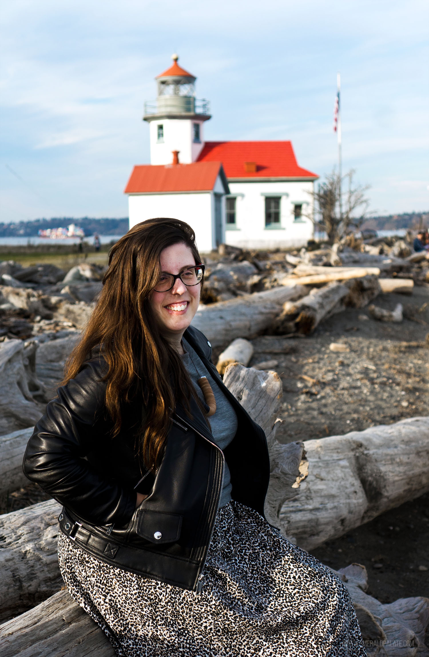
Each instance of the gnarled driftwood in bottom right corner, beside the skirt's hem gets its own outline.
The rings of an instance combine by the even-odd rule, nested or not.
[[[367,654],[380,654],[380,657],[429,655],[424,643],[429,627],[428,598],[400,598],[390,604],[382,604],[365,593],[368,588],[365,566],[351,564],[334,572],[344,581],[350,593],[362,638],[368,648]]]

